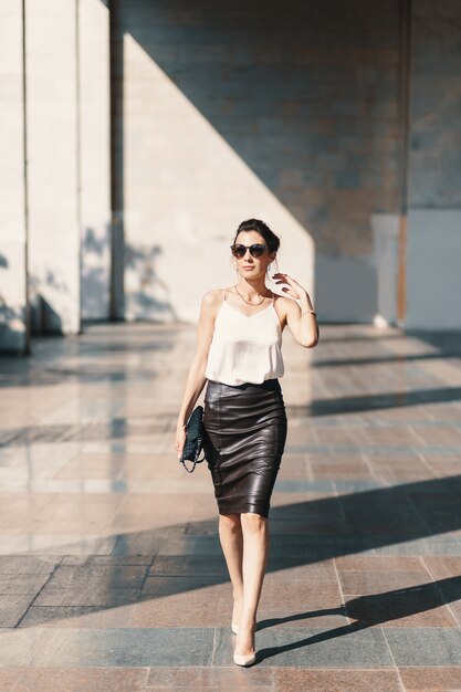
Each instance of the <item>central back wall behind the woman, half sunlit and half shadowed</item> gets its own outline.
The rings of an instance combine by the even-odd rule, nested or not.
[[[311,292],[315,262],[323,319],[373,319],[371,218],[399,205],[399,6],[115,0],[127,318],[195,314],[256,216]]]

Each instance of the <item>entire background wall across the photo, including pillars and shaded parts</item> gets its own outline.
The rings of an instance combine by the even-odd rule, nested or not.
[[[114,0],[111,36],[106,1],[24,8],[0,8],[0,349],[27,275],[38,333],[196,319],[253,216],[321,319],[395,323],[407,202],[406,324],[460,326],[459,0]]]

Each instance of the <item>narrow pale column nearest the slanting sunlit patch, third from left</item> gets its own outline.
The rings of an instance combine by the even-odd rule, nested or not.
[[[82,318],[109,316],[111,102],[109,12],[80,0],[80,151]]]

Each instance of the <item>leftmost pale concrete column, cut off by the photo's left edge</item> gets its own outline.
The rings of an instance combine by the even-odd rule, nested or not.
[[[0,352],[23,353],[25,185],[22,1],[0,3]]]

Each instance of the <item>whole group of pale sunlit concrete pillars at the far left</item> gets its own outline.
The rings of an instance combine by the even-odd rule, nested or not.
[[[0,32],[0,350],[24,352],[27,282],[35,334],[109,316],[108,8],[6,0]]]

